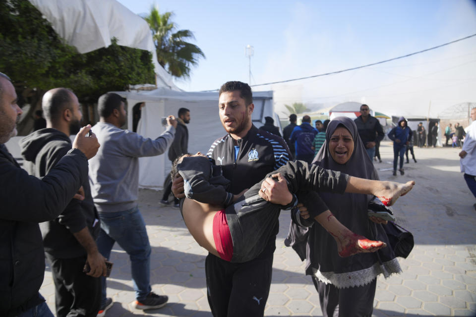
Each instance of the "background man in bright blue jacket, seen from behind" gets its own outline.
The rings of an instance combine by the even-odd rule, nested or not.
[[[319,133],[311,125],[311,117],[304,115],[302,123],[294,128],[291,134],[290,141],[296,145],[296,159],[303,160],[309,164],[314,159],[314,150],[312,149],[312,142]]]

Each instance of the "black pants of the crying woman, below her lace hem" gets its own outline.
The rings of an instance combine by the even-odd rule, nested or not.
[[[377,279],[370,284],[338,289],[325,284],[312,276],[314,286],[319,293],[323,317],[371,317],[373,298],[377,288]]]

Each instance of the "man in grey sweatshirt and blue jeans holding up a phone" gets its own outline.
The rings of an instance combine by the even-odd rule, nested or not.
[[[135,308],[163,307],[167,296],[157,295],[150,286],[150,244],[145,223],[137,208],[138,158],[165,153],[174,140],[177,121],[167,118],[168,126],[157,139],[144,138],[120,127],[126,122],[125,100],[107,93],[98,100],[100,122],[93,128],[100,150],[89,160],[91,194],[101,219],[99,252],[109,258],[114,243],[127,252],[135,290]],[[98,316],[111,307],[106,298],[106,278],[102,283],[102,303]]]

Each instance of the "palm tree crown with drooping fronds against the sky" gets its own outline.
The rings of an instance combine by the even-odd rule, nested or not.
[[[190,66],[198,64],[198,58],[205,54],[194,44],[186,42],[195,39],[190,30],[178,30],[171,21],[173,12],[160,14],[157,7],[152,7],[144,19],[152,30],[157,50],[157,61],[175,77],[189,78]]]

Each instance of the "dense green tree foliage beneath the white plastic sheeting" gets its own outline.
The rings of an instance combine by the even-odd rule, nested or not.
[[[112,42],[108,48],[80,54],[28,0],[0,0],[0,71],[13,80],[20,103],[31,104],[27,117],[51,88],[70,88],[81,103],[94,104],[108,91],[155,83],[150,52]],[[22,124],[19,130],[25,133],[28,127],[22,129]]]

